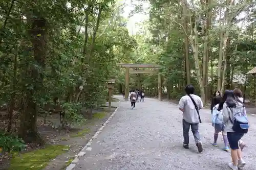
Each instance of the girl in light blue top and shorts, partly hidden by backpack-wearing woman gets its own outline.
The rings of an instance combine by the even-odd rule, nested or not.
[[[227,139],[227,133],[225,132],[225,126],[222,123],[223,115],[222,115],[222,110],[218,110],[219,104],[221,103],[221,96],[215,96],[214,98],[214,107],[212,108],[212,115],[211,115],[211,120],[212,120],[212,126],[215,128],[215,133],[214,133],[214,142],[212,145],[215,147],[218,147],[217,144],[217,139],[219,136],[219,132],[222,132],[223,136],[223,141],[225,144],[224,151],[229,151],[228,148],[228,139]]]

